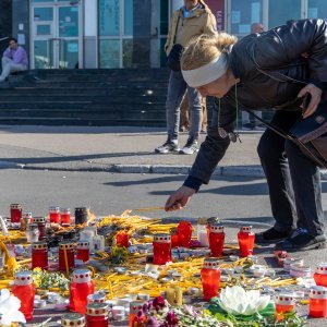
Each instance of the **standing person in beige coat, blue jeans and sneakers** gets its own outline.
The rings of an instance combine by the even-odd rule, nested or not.
[[[167,56],[173,45],[185,47],[191,38],[202,34],[216,35],[217,24],[210,9],[202,0],[184,0],[184,5],[177,10],[171,19],[171,24],[165,45]],[[179,149],[180,105],[187,89],[190,105],[191,128],[189,140],[184,147]],[[155,149],[158,154],[180,152],[192,155],[198,150],[198,138],[203,120],[202,97],[197,89],[187,86],[181,71],[171,71],[166,101],[167,141]]]

